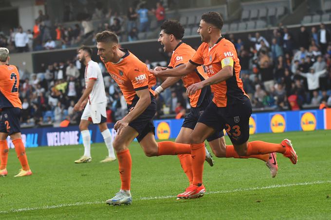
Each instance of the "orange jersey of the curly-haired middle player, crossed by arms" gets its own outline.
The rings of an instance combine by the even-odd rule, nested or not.
[[[183,41],[180,42],[175,50],[172,52],[170,63],[168,68],[175,68],[182,64],[187,63],[196,51],[189,45],[185,44]],[[182,77],[183,84],[185,88],[195,83],[199,83],[208,78],[207,74],[203,71],[202,67],[197,67],[194,71]],[[210,88],[204,87],[201,90],[196,91],[196,93],[188,96],[190,99],[190,104],[192,107],[199,107],[204,97],[210,95]],[[209,92],[208,92],[209,91]]]

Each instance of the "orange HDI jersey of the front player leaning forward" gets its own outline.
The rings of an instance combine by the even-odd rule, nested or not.
[[[117,63],[107,62],[105,66],[110,76],[120,87],[125,101],[130,105],[139,98],[136,91],[149,89],[149,92],[154,95],[151,89],[156,84],[156,78],[152,75],[146,64],[140,61],[135,55],[128,50],[120,49],[126,54]]]

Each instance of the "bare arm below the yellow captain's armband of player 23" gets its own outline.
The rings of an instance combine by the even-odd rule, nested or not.
[[[233,75],[233,67],[225,66],[214,76],[209,77],[208,79],[203,80],[199,83],[188,86],[186,92],[188,95],[192,95],[197,90],[202,89],[204,86],[221,83],[221,82],[231,78],[232,75]]]

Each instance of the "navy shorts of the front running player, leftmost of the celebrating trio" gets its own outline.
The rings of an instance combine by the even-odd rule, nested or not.
[[[128,110],[130,111],[135,104],[128,105]],[[156,113],[156,102],[155,99],[151,100],[147,109],[138,118],[134,119],[129,123],[129,126],[134,128],[139,135],[137,136],[138,142],[140,142],[148,133],[153,132],[155,135],[155,127],[153,123],[153,118]]]

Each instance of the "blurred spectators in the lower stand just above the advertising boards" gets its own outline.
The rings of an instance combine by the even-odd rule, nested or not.
[[[330,31],[321,24],[318,30],[316,27],[306,30],[302,26],[296,39],[286,27],[275,29],[273,34],[271,42],[259,33],[247,35],[247,39],[225,35],[236,46],[244,90],[253,107],[268,110],[331,107]],[[171,54],[160,52],[168,62]],[[107,119],[116,121],[125,115],[127,105],[99,62],[108,99]],[[154,68],[148,60],[145,63],[148,68]],[[85,67],[77,58],[41,66],[40,73],[21,77],[22,123],[51,125],[65,118],[72,124],[78,123],[80,113],[75,113],[73,107],[84,88]],[[157,118],[169,114],[184,117],[190,105],[182,81],[158,96],[157,106]]]

